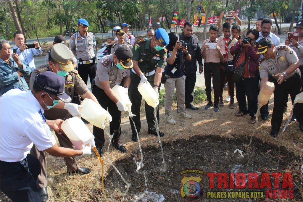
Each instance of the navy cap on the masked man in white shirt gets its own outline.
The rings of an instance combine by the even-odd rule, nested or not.
[[[42,90],[56,95],[63,102],[70,103],[72,101],[72,98],[64,92],[65,78],[63,76],[52,71],[43,71],[36,76],[36,83]]]

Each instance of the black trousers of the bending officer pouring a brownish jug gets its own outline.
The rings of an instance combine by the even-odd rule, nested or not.
[[[274,79],[275,80],[275,79]],[[282,120],[285,98],[290,94],[291,102],[294,103],[295,97],[301,92],[301,75],[300,71],[296,70],[295,74],[278,84],[277,80],[274,81],[274,110],[271,117],[271,130],[279,132]]]

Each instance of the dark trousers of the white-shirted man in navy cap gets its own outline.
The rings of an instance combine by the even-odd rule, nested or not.
[[[40,162],[28,154],[20,162],[0,161],[1,191],[12,201],[40,202],[37,178],[41,172]]]

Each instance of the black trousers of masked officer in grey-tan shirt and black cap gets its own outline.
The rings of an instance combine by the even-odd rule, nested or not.
[[[109,134],[114,134],[112,139],[113,146],[121,144],[121,111],[118,110],[117,104],[98,86],[94,86],[92,93],[97,98],[101,107],[105,110],[108,109],[109,114],[112,116],[112,122],[109,123]],[[105,142],[103,129],[94,126],[93,134],[95,136],[96,147],[102,149]]]

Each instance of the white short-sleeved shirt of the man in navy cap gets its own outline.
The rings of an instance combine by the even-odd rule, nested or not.
[[[32,91],[12,89],[0,98],[0,160],[22,161],[33,144],[38,150],[56,144],[48,125],[42,118],[44,110]]]

